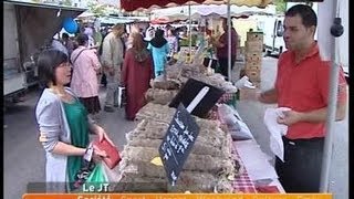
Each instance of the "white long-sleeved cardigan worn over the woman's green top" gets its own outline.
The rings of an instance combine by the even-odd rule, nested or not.
[[[76,97],[69,87],[65,87],[65,91]],[[71,132],[60,97],[45,88],[37,104],[35,116],[40,132],[45,133],[48,138],[42,143],[46,157],[46,191],[65,192],[69,179],[66,175],[67,156],[52,153],[58,142],[71,144]],[[90,125],[94,123],[90,117],[87,119]]]

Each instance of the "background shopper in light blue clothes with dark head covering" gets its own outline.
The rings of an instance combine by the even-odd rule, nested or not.
[[[163,30],[156,30],[155,36],[148,43],[147,49],[153,54],[155,77],[164,75],[165,65],[167,63],[167,54],[169,53],[169,46],[167,40],[164,38]]]

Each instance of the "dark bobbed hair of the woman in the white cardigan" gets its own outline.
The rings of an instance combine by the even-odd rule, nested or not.
[[[48,87],[49,83],[52,82],[53,85],[56,85],[55,69],[65,62],[69,62],[69,57],[62,51],[49,49],[41,52],[38,57],[40,84]]]

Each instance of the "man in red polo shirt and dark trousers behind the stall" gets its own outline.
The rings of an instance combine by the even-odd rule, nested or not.
[[[331,62],[323,61],[314,40],[317,18],[298,4],[285,13],[283,39],[288,51],[278,61],[274,88],[259,95],[262,103],[290,107],[278,123],[287,125],[284,163],[275,160],[287,192],[319,192],[327,116]],[[346,82],[340,71],[336,121],[345,117]]]

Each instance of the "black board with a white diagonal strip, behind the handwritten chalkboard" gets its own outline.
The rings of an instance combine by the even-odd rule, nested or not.
[[[194,78],[189,78],[186,82],[175,98],[170,102],[169,106],[177,108],[179,103],[183,103],[185,107],[188,107],[204,87],[208,87],[209,91],[192,109],[191,114],[198,117],[206,117],[208,112],[215,106],[225,91]]]

